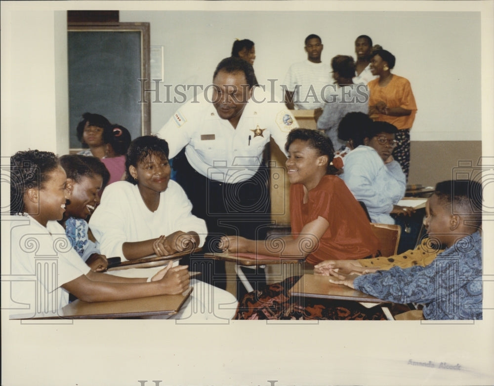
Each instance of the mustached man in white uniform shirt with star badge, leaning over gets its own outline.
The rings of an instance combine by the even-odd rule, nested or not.
[[[262,154],[270,138],[283,149],[297,123],[255,85],[248,62],[225,58],[209,93],[183,105],[158,132],[169,143],[176,181],[192,213],[206,220],[205,252],[216,252],[214,240],[224,234],[255,238],[271,224],[269,169]],[[225,288],[224,262],[210,264],[214,273],[203,271],[203,279]]]

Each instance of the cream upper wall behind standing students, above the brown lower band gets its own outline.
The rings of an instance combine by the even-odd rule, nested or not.
[[[216,64],[230,56],[235,38],[255,42],[257,78],[268,89],[267,79],[277,79],[280,98],[288,67],[307,57],[307,35],[322,38],[322,60],[330,61],[337,54],[355,56],[355,38],[366,34],[396,56],[393,73],[412,84],[418,106],[412,141],[481,139],[480,12],[121,11],[120,19],[149,22],[151,45],[164,47],[163,102],[164,84],[171,89],[209,84]],[[187,94],[191,97],[192,89]],[[177,107],[153,103],[152,131]],[[459,108],[468,114],[458,114]]]

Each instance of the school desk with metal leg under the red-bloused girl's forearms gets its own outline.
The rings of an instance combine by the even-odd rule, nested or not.
[[[264,268],[267,265],[280,264],[283,277],[301,275],[303,272],[304,258],[295,257],[273,257],[264,256],[255,253],[206,253],[205,258],[222,260],[225,262],[235,263],[235,272],[239,276],[247,292],[254,289],[248,281],[242,267],[259,267]]]

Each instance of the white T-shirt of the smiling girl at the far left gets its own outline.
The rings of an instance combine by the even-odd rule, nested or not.
[[[33,276],[32,281],[12,282],[11,313],[26,312],[19,305],[31,305],[30,310],[38,313],[66,306],[69,292],[61,285],[90,268],[72,248],[65,230],[56,221],[48,221],[45,228],[29,215],[10,216],[10,221],[10,273]]]

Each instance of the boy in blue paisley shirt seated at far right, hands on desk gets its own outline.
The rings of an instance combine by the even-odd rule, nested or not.
[[[329,280],[386,301],[424,304],[425,319],[482,319],[481,211],[480,183],[441,182],[427,200],[424,223],[447,249],[431,264],[347,278],[331,271]]]

